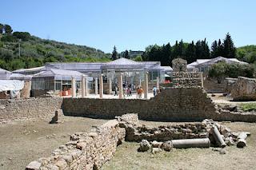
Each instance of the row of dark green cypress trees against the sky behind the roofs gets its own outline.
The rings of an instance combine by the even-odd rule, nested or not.
[[[126,54],[125,52],[123,57],[127,57]],[[186,59],[188,63],[191,63],[197,59],[210,59],[218,56],[236,57],[236,48],[229,33],[226,34],[226,38],[223,41],[218,39],[218,42],[214,41],[210,47],[206,42],[206,38],[195,43],[194,41],[187,43],[181,40],[180,42],[176,41],[174,45],[170,45],[170,43],[166,45],[149,45],[142,54],[142,60],[161,61],[161,65],[171,65],[171,61],[177,57]],[[114,46],[112,60],[117,58],[118,52]]]

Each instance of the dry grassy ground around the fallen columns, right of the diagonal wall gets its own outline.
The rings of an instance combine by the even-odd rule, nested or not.
[[[171,123],[146,122],[145,125],[168,125]],[[125,142],[118,146],[112,160],[103,165],[108,169],[256,169],[256,124],[232,122],[223,123],[234,132],[251,132],[246,148],[226,147],[221,155],[212,148],[175,149],[171,152],[137,152],[138,143]]]

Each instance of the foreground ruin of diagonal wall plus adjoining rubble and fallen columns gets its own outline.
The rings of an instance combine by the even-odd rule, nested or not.
[[[210,145],[224,148],[237,144],[242,148],[246,146],[248,135],[249,132],[231,132],[212,120],[149,127],[139,124],[138,114],[126,114],[95,127],[91,132],[71,135],[70,141],[55,149],[51,156],[30,162],[26,169],[99,169],[114,156],[124,140],[141,142],[140,152],[151,150],[157,153],[170,152],[172,148],[209,148]],[[225,153],[223,149],[219,151]]]

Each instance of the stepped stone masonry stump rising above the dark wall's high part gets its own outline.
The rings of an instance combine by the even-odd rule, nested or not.
[[[174,72],[171,74],[174,87],[203,87],[202,73],[187,72],[186,60],[176,58],[172,61]]]

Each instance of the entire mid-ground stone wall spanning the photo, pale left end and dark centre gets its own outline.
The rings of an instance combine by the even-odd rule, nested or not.
[[[138,113],[149,121],[256,121],[253,113],[218,109],[201,88],[166,88],[150,100],[45,97],[0,100],[0,123],[27,119],[50,121],[56,109],[75,117],[114,118]]]

